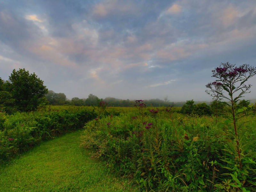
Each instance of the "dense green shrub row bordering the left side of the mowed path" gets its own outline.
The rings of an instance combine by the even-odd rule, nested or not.
[[[51,140],[73,132],[96,117],[94,111],[48,110],[6,115],[0,113],[0,164],[33,148],[43,140]]]

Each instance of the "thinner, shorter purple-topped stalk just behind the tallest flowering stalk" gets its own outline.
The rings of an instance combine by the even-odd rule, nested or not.
[[[222,100],[220,97],[220,94],[223,93],[223,87],[222,83],[220,82],[211,82],[205,85],[209,90],[206,90],[205,92],[212,96],[212,100],[215,102],[215,125],[217,125],[217,118],[218,118],[218,104]]]

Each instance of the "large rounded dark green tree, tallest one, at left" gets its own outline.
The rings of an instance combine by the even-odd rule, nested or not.
[[[6,82],[7,91],[11,93],[15,106],[21,111],[34,110],[40,104],[40,98],[48,92],[44,82],[35,73],[13,69],[9,81]]]

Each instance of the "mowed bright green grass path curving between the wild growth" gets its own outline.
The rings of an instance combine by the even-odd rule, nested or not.
[[[0,167],[0,191],[138,191],[79,148],[81,133],[44,142]]]

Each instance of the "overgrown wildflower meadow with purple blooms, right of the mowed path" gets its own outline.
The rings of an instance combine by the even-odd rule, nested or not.
[[[214,115],[188,116],[174,106],[117,108],[118,116],[105,109],[85,125],[82,146],[140,191],[256,191],[255,113],[237,117],[239,158],[224,114],[216,124]]]

